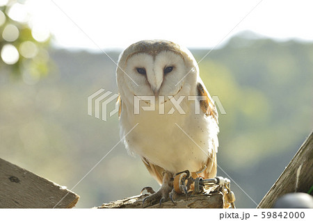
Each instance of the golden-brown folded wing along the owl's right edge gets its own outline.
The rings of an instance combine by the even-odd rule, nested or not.
[[[214,104],[213,99],[209,95],[209,92],[204,87],[202,82],[199,82],[197,85],[197,92],[198,96],[204,96],[207,99],[199,100],[200,102],[200,110],[202,113],[207,115],[207,117],[211,116],[214,121],[216,121],[216,124],[218,124],[218,112],[216,109],[216,106]],[[207,168],[199,174],[200,177],[204,177],[204,179],[216,177],[216,152],[218,149],[218,137],[217,134],[214,136],[214,138],[211,141],[211,145],[213,145],[211,148],[211,152],[209,152],[209,158],[207,159],[206,166]]]

